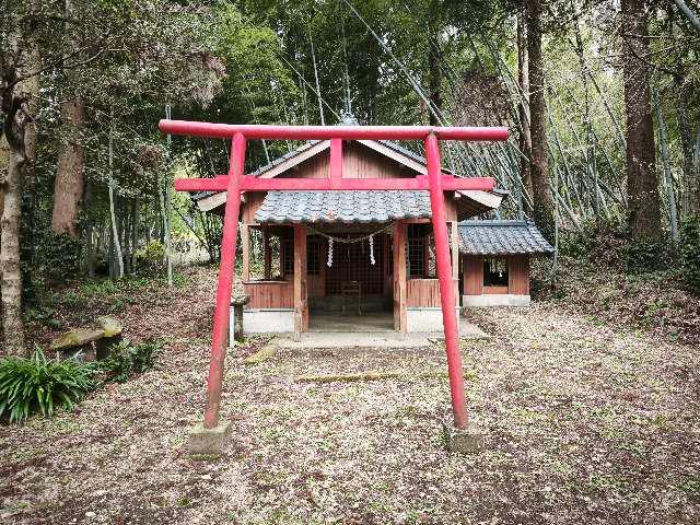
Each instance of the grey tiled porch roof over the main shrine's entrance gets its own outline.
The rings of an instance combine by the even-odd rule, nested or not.
[[[270,191],[255,213],[261,224],[366,224],[430,217],[430,195],[422,190]]]

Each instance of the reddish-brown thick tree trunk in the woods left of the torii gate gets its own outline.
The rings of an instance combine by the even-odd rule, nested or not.
[[[85,121],[85,108],[75,97],[61,103],[62,138],[59,143],[51,230],[77,237],[80,201],[83,197],[84,152],[80,130]]]

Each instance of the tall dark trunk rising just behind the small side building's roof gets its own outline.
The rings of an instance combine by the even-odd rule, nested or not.
[[[549,159],[547,158],[547,106],[545,103],[545,63],[542,58],[541,3],[525,2],[527,20],[527,57],[529,59],[529,132],[532,156],[534,219],[542,234],[553,240],[555,207],[549,191]]]

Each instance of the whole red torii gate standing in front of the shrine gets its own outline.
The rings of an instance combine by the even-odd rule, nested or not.
[[[186,120],[161,120],[159,128],[164,133],[187,135],[206,138],[232,139],[229,174],[215,178],[180,178],[175,180],[178,191],[226,191],[226,207],[221,240],[221,262],[217,288],[217,307],[211,341],[209,380],[207,383],[207,406],[205,429],[219,424],[221,386],[226,354],[226,338],[234,280],[236,236],[241,191],[268,190],[372,190],[372,189],[422,189],[430,191],[435,259],[440,280],[440,300],[445,334],[447,371],[454,425],[466,429],[468,424],[465,402],[462,357],[455,293],[452,281],[452,262],[447,243],[444,191],[480,189],[494,187],[493,178],[463,178],[443,175],[440,161],[439,140],[503,141],[508,129],[503,127],[431,127],[431,126],[264,126],[194,122]],[[257,178],[245,175],[245,150],[248,139],[268,140],[330,140],[330,176],[326,179],[302,178]],[[343,178],[343,140],[422,140],[425,149],[428,175],[416,178]]]

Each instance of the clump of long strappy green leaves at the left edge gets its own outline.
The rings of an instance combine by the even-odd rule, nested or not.
[[[54,415],[55,407],[73,408],[94,388],[95,366],[47,360],[40,349],[30,359],[9,357],[0,360],[0,417],[20,422],[39,411]]]

